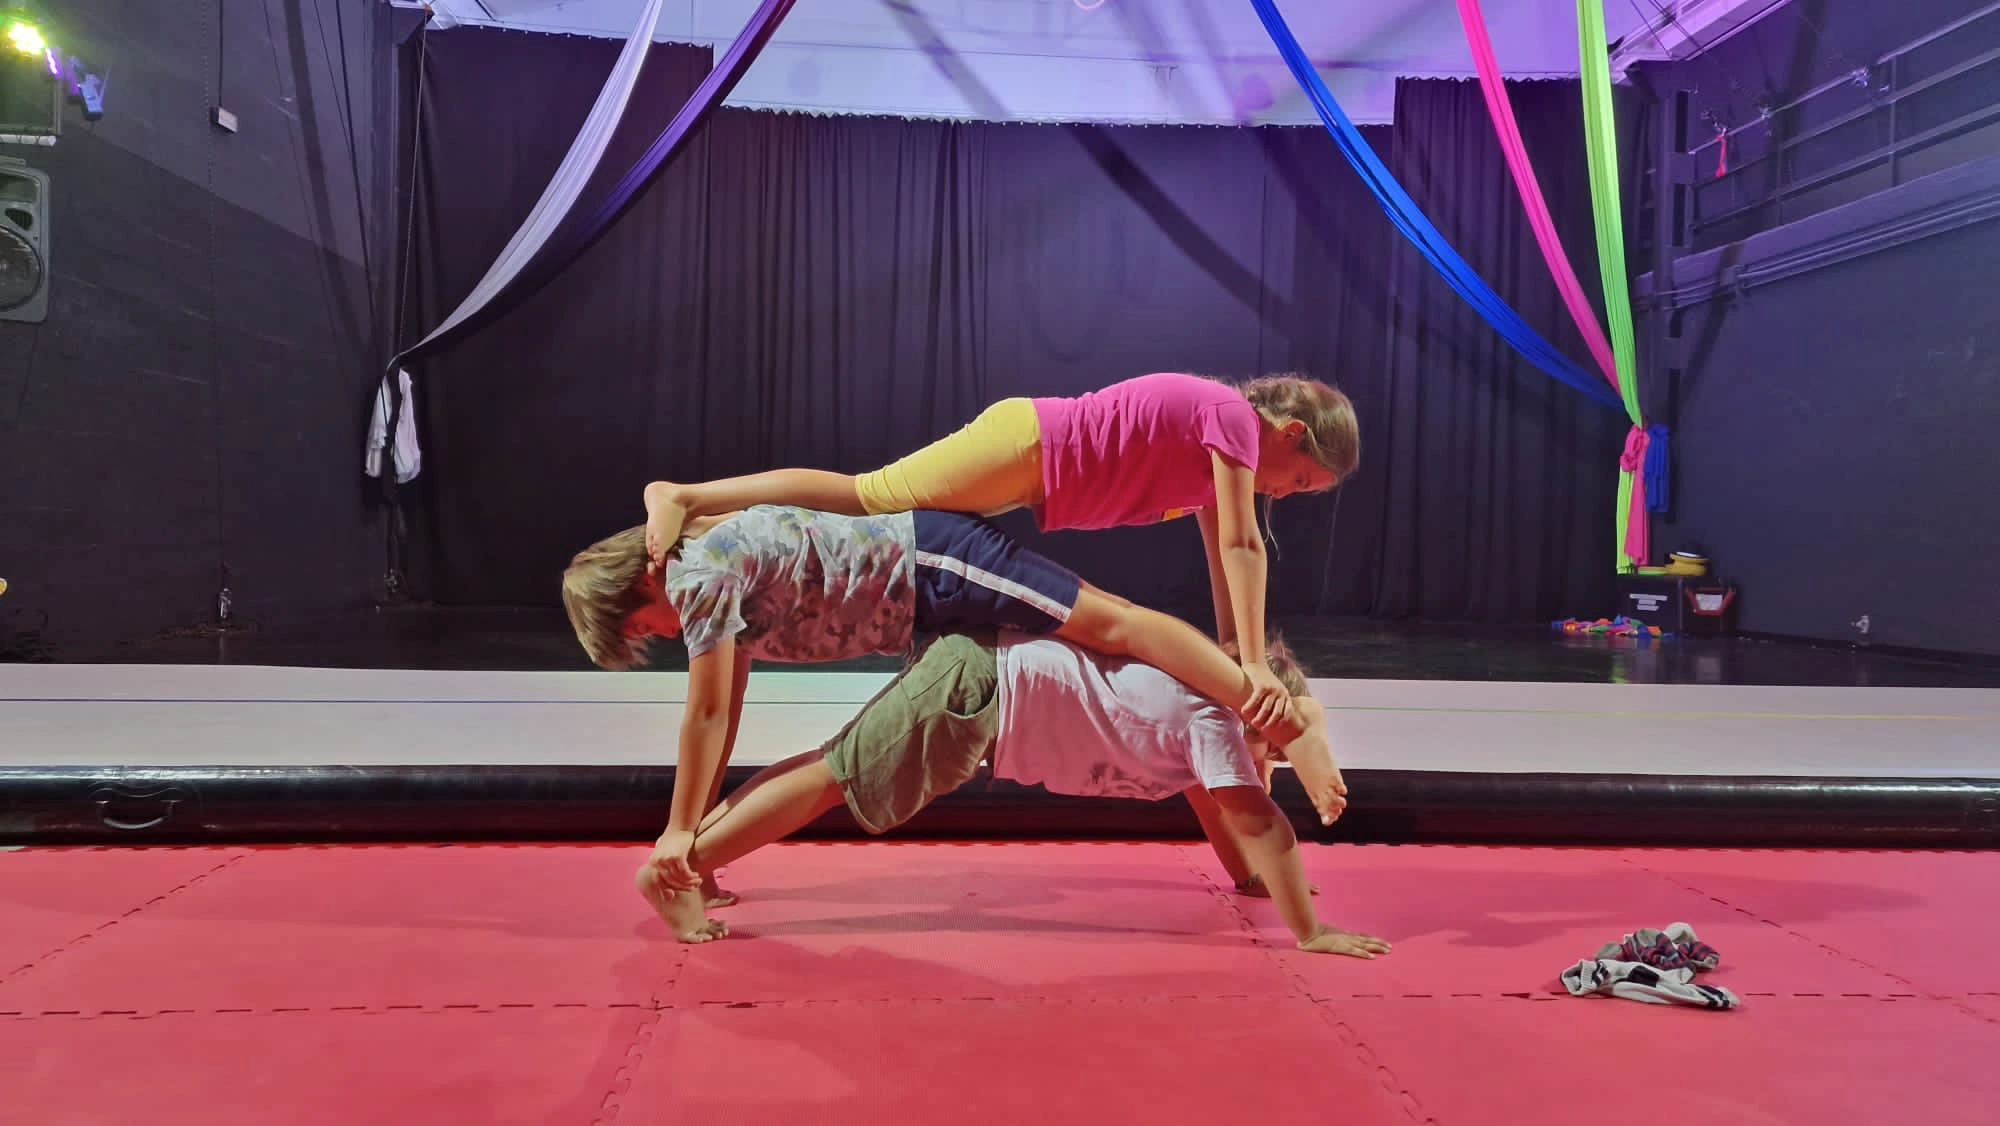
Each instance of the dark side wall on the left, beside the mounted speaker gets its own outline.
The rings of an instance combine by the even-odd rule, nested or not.
[[[396,44],[378,0],[44,4],[106,78],[48,172],[50,308],[0,322],[0,654],[368,604],[362,468],[386,358]],[[208,124],[210,106],[238,132]],[[376,300],[382,296],[384,300]],[[18,614],[16,614],[18,612]]]

